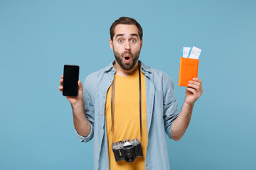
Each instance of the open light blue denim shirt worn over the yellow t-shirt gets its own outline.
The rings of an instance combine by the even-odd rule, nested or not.
[[[171,137],[171,125],[178,116],[178,101],[174,97],[174,84],[164,72],[146,67],[141,61],[146,84],[146,124],[148,144],[145,169],[169,169],[166,134]],[[107,90],[112,84],[116,70],[113,63],[86,77],[83,84],[85,115],[91,130],[87,137],[78,135],[81,142],[94,137],[94,169],[110,169],[105,103]]]

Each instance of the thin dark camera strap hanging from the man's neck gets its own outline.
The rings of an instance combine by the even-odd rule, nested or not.
[[[139,67],[139,64],[138,64],[138,67]],[[113,136],[114,136],[114,91],[115,91],[114,89],[115,89],[115,77],[112,83],[112,91],[111,91],[112,142],[113,142]],[[140,122],[140,136],[141,136],[141,142],[142,142],[142,79],[141,79],[140,67],[139,67],[139,122]]]

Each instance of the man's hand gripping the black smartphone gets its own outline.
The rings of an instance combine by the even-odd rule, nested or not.
[[[61,93],[63,92],[63,75],[61,75],[59,90]],[[80,80],[78,81],[78,96],[76,97],[65,96],[65,97],[68,99],[68,101],[70,101],[72,106],[81,104],[82,103],[82,82]]]

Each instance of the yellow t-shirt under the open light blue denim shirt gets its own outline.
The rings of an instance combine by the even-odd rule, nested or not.
[[[147,131],[146,131],[146,89],[145,75],[141,72],[142,78],[142,152],[143,157],[135,158],[134,162],[119,161],[114,159],[112,142],[125,139],[133,140],[140,137],[139,122],[139,69],[134,71],[129,77],[121,77],[115,74],[114,93],[114,135],[112,141],[112,116],[111,116],[111,92],[112,86],[107,91],[107,101],[105,106],[107,142],[110,158],[110,169],[145,169]]]

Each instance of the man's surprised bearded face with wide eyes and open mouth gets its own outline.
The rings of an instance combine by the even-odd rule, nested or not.
[[[110,48],[114,51],[117,64],[124,70],[131,70],[139,60],[142,40],[139,39],[135,25],[119,24],[114,28],[113,41]]]

